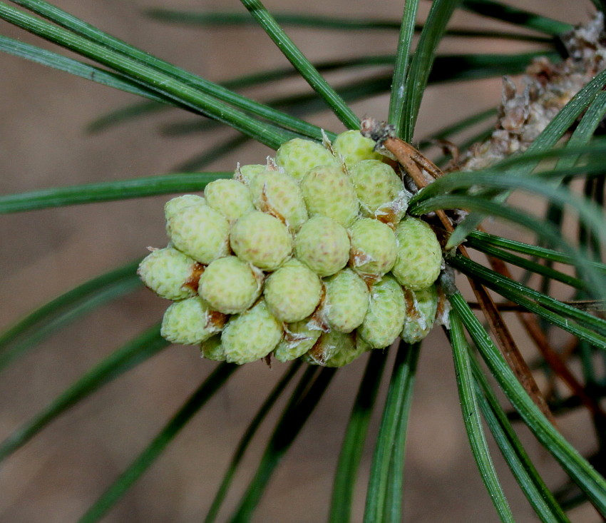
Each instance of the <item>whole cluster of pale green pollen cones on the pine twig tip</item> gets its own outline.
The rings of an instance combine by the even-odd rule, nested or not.
[[[431,330],[442,265],[433,230],[406,215],[400,176],[359,131],[294,139],[238,166],[204,197],[165,205],[168,247],[141,262],[173,300],[170,342],[237,364],[273,356],[340,367]]]

